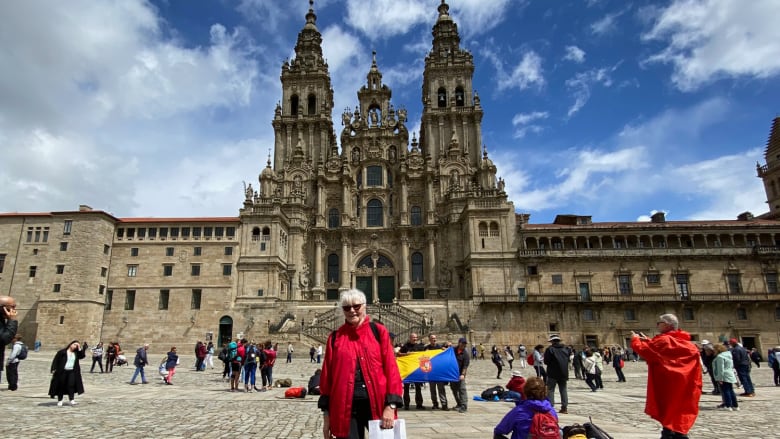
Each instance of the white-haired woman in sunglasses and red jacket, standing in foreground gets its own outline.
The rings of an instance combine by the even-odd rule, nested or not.
[[[363,439],[369,420],[393,428],[403,385],[387,328],[366,315],[366,295],[347,290],[340,302],[345,322],[328,337],[317,407],[325,439]]]

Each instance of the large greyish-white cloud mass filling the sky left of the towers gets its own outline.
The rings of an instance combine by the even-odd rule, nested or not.
[[[268,75],[243,29],[214,24],[203,45],[186,47],[157,14],[140,0],[0,2],[0,211],[148,212],[160,187],[139,187],[157,175],[181,191],[159,199],[191,193],[195,177],[171,163],[207,161],[208,139],[245,117],[234,112],[254,107]],[[272,112],[276,97],[262,98],[258,113]],[[175,214],[188,212],[203,214]]]

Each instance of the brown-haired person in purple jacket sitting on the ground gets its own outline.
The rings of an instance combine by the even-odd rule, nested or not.
[[[550,401],[547,400],[547,385],[540,377],[529,378],[523,389],[526,397],[515,403],[515,407],[493,429],[493,439],[506,439],[512,433],[512,439],[525,439],[531,430],[531,420],[536,413],[551,413],[558,419]]]

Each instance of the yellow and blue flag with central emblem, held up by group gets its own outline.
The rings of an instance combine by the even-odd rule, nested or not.
[[[460,379],[458,361],[452,348],[409,352],[397,357],[404,383],[452,382]]]

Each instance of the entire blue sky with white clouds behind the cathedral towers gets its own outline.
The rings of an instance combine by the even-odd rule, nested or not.
[[[334,121],[371,52],[419,128],[440,0],[317,0]],[[450,0],[517,212],[765,212],[775,0]],[[306,0],[0,2],[0,211],[236,216],[273,147]]]

